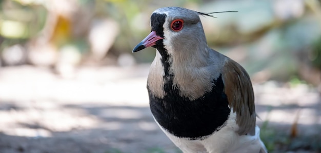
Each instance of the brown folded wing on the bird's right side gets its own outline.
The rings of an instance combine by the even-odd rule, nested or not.
[[[255,135],[254,93],[249,74],[238,63],[228,59],[223,68],[223,78],[229,105],[237,114],[238,134]]]

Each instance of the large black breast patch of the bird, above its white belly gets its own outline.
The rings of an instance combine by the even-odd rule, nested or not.
[[[171,78],[171,74],[168,77]],[[159,125],[177,137],[195,140],[211,135],[224,126],[231,110],[224,93],[222,75],[213,80],[213,83],[215,85],[212,91],[190,101],[188,98],[180,97],[178,88],[172,86],[172,80],[167,80],[164,86],[166,95],[163,99],[156,98],[149,91],[150,108],[154,118]]]

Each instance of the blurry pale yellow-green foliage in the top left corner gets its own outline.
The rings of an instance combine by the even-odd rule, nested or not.
[[[16,1],[2,1],[0,7],[0,35],[8,39],[30,39],[45,25],[47,11],[41,5],[23,5]]]

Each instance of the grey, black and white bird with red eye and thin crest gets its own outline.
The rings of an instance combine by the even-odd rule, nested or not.
[[[249,74],[207,45],[199,16],[211,14],[181,7],[151,14],[150,34],[132,50],[156,48],[147,79],[151,113],[184,153],[265,153]]]

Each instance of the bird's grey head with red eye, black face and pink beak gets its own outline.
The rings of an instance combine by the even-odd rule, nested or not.
[[[134,49],[156,48],[160,54],[195,51],[207,46],[199,15],[208,15],[180,7],[155,10],[151,15],[151,33]]]

